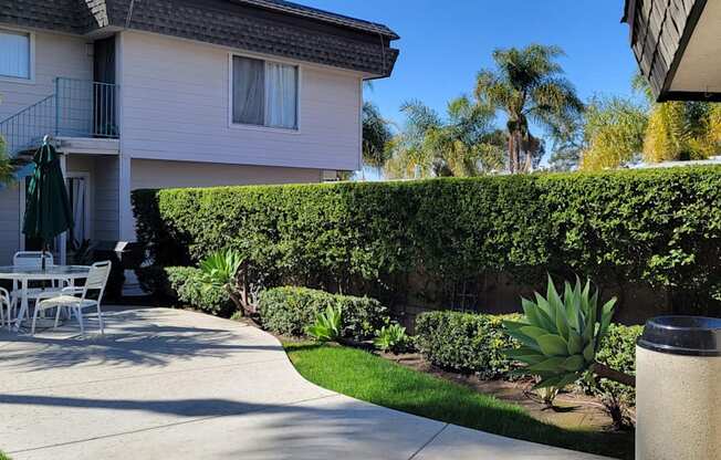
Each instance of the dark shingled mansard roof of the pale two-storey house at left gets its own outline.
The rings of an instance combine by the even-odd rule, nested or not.
[[[284,0],[0,0],[0,23],[79,34],[127,27],[377,76],[398,58],[387,27]]]

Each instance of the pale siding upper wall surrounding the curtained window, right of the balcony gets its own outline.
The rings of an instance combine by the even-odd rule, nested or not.
[[[229,50],[123,32],[122,148],[133,158],[359,168],[359,74],[301,64],[299,133],[229,126]]]

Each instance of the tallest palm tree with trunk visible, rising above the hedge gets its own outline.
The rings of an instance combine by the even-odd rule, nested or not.
[[[479,72],[476,98],[479,105],[506,116],[509,170],[529,171],[539,146],[530,123],[546,128],[565,123],[583,111],[583,103],[563,76],[557,46],[531,44],[524,49],[493,51],[494,70]],[[537,153],[535,153],[537,155]]]

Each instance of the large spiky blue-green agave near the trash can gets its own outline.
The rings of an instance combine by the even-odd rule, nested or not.
[[[566,281],[562,297],[548,276],[546,296],[536,292],[535,302],[522,299],[522,304],[524,317],[503,322],[509,335],[521,343],[506,355],[525,364],[521,372],[540,377],[536,388],[562,388],[595,365],[615,297],[603,305],[598,317],[598,291],[591,295],[591,281],[584,285],[576,278],[575,286]]]

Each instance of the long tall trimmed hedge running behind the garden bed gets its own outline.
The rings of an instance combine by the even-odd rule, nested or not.
[[[418,290],[418,273],[427,286],[581,273],[666,289],[679,311],[719,307],[720,167],[137,190],[133,202],[156,263],[234,248],[265,286],[386,299]]]

